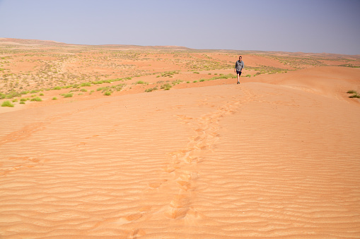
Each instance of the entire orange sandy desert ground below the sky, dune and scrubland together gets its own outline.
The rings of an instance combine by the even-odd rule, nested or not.
[[[357,92],[355,55],[0,38],[0,238],[360,238]]]

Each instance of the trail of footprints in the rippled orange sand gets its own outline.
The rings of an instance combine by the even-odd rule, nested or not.
[[[207,103],[205,99],[199,104],[204,106]],[[240,102],[233,99],[232,102],[226,102],[215,111],[204,114],[199,118],[191,118],[184,115],[176,115],[180,123],[192,123],[194,135],[189,137],[189,142],[184,149],[168,153],[168,165],[163,168],[165,173],[171,174],[170,180],[161,180],[149,183],[148,188],[161,191],[161,185],[170,183],[178,187],[178,194],[174,195],[172,200],[161,212],[168,219],[182,219],[185,216],[192,216],[193,219],[201,217],[194,207],[192,207],[192,198],[196,195],[194,191],[197,188],[197,178],[199,171],[197,164],[204,161],[202,155],[204,152],[212,150],[219,140],[219,120],[226,114],[232,114],[240,105]],[[215,107],[211,105],[211,107]]]

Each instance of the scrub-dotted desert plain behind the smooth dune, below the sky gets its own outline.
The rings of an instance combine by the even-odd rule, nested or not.
[[[153,78],[178,79],[178,74],[185,72],[187,73],[181,74],[181,76],[186,79],[187,84],[236,78],[236,75],[226,73],[233,71],[232,61],[236,59],[239,52],[174,51],[165,48],[155,51],[149,49],[145,54],[139,49],[119,51],[116,48],[94,48],[94,46],[59,47],[50,50],[42,49],[41,51],[31,49],[29,51],[13,45],[11,48],[2,48],[1,54],[4,56],[0,57],[0,99],[9,99],[9,102],[19,102],[20,100],[21,104],[25,104],[28,100],[41,99],[40,97],[44,94],[51,95],[45,92],[52,90],[69,89],[71,92],[61,95],[72,97],[73,94],[81,95],[88,91],[90,91],[89,94],[93,94],[96,91],[96,85],[98,85],[98,91],[102,92],[101,95],[105,92],[112,94],[124,88],[124,84],[115,85],[114,82],[123,83],[127,80],[133,80],[132,85],[142,85],[141,87],[144,90],[148,88],[145,90],[146,92],[158,89],[170,90],[171,87],[180,84],[182,80],[173,80],[172,82],[160,80],[156,82],[156,85],[153,81],[145,82],[145,80]],[[267,61],[277,63],[271,64],[271,66],[278,66],[246,66],[246,69],[250,71],[248,75],[243,75],[243,77],[248,78],[260,74],[286,73],[313,66],[360,67],[358,57],[347,57],[346,55],[322,56],[320,54],[301,55],[298,53],[286,53],[285,55],[265,51],[244,51],[241,54],[263,57]],[[158,62],[153,63],[153,61]],[[138,67],[140,65],[147,67]],[[21,71],[18,71],[17,68],[21,68]],[[214,73],[217,70],[221,71]],[[186,78],[190,76],[189,73],[193,74],[191,80]],[[134,80],[134,78],[146,75],[151,77]],[[151,85],[151,88],[149,88],[150,86],[146,87],[146,85]],[[92,88],[89,89],[88,87]],[[127,90],[132,90],[132,88],[135,87],[127,87]],[[352,94],[349,97],[359,97],[359,93],[349,94]],[[49,97],[49,99],[54,98]]]

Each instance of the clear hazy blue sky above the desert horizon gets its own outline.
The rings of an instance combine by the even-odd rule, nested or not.
[[[0,37],[360,54],[360,0],[0,0]]]

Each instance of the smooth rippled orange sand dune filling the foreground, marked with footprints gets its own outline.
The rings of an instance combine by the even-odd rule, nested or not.
[[[359,76],[17,105],[0,114],[0,236],[359,238]]]

